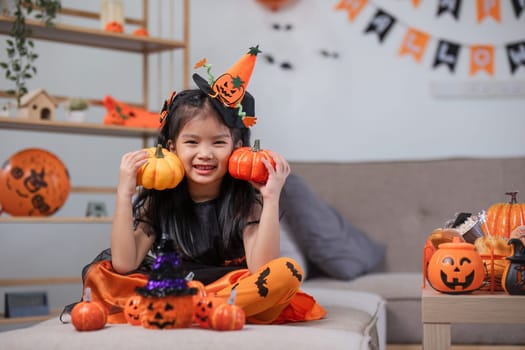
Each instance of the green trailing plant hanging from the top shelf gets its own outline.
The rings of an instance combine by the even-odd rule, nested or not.
[[[34,62],[38,55],[31,30],[26,26],[26,17],[34,15],[35,19],[52,26],[62,6],[59,0],[13,0],[13,3],[13,24],[5,46],[7,61],[0,62],[0,67],[5,70],[5,79],[15,85],[7,93],[16,97],[19,107],[20,98],[28,92],[27,80],[37,74]]]

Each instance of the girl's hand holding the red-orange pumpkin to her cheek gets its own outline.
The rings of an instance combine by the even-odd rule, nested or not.
[[[279,153],[268,151],[270,156],[275,161],[275,169],[272,164],[265,158],[262,159],[262,162],[268,170],[268,181],[266,184],[261,184],[251,181],[252,185],[257,188],[263,198],[268,199],[271,197],[276,197],[279,199],[281,195],[281,190],[286,182],[286,178],[290,174],[290,164],[283,158]]]

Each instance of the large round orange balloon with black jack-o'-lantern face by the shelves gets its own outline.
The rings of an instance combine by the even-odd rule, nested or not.
[[[13,216],[49,216],[65,203],[69,172],[53,153],[28,148],[12,155],[0,170],[0,204]]]

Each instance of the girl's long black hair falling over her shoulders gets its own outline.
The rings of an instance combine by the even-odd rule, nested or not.
[[[184,125],[203,111],[214,113],[222,121],[209,99],[204,92],[194,89],[182,91],[172,101],[167,101],[163,107],[166,120],[159,132],[158,143],[168,148],[169,140],[175,142]],[[234,145],[242,141],[243,146],[249,146],[249,129],[229,129]],[[226,173],[219,197],[215,201],[223,246],[238,250],[239,247],[235,245],[242,241],[242,232],[254,204],[261,203],[258,192],[250,183],[234,179]],[[183,257],[192,259],[202,253],[203,246],[194,232],[195,222],[198,221],[194,206],[185,178],[173,189],[141,189],[133,203],[134,226],[136,228],[139,223],[145,224],[148,226],[145,232],[154,234],[156,240],[160,238],[161,233],[167,233]]]

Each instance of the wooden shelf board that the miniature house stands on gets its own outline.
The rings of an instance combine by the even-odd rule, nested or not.
[[[0,117],[0,128],[23,131],[46,131],[67,134],[154,137],[158,130],[153,128],[134,128],[119,125],[96,123],[74,123],[62,121],[35,121],[22,118]]]

